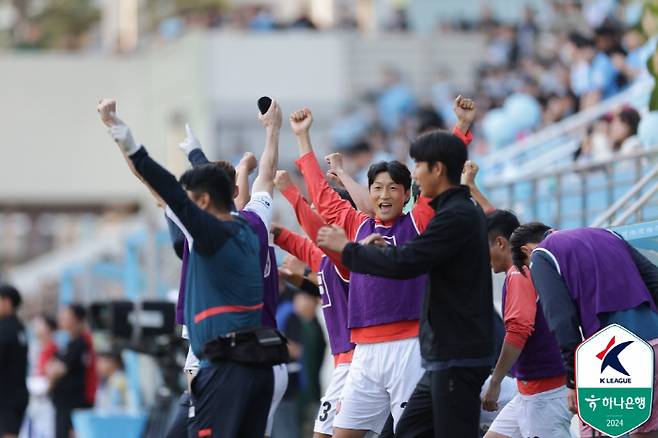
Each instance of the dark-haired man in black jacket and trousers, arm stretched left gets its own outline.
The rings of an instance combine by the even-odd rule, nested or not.
[[[415,236],[397,242],[396,246],[380,247],[390,236],[385,228],[374,230],[383,232],[383,236],[372,234],[362,245],[350,243],[351,231],[346,234],[334,225],[318,232],[318,246],[342,253],[343,263],[352,271],[350,299],[357,275],[370,274],[373,277],[366,278],[382,281],[369,289],[373,299],[391,303],[392,296],[410,302],[417,299],[414,289],[386,285],[385,278],[401,280],[428,274],[420,315],[420,344],[426,371],[424,382],[418,382],[403,417],[424,418],[429,407],[434,436],[476,437],[480,389],[493,362],[493,298],[486,218],[471,199],[468,188],[459,185],[467,152],[458,137],[446,131],[423,134],[412,143],[410,155],[416,162],[414,176],[421,189],[419,204],[427,205],[423,200],[431,199],[429,205],[437,212],[422,232],[418,230]],[[384,200],[379,202],[376,208],[381,211]],[[350,376],[360,359],[360,347],[357,342]],[[392,362],[395,369],[403,363],[404,357],[393,349],[378,353],[376,361],[368,364],[375,376],[383,369],[382,364]],[[372,375],[373,371],[362,373]],[[347,399],[351,391],[346,389]],[[422,412],[419,415],[417,411]],[[418,436],[415,431],[396,434]]]

